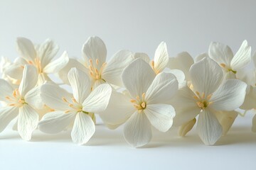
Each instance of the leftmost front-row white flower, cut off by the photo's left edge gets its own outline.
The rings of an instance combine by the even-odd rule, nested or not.
[[[38,113],[35,108],[42,107],[40,89],[36,86],[38,75],[36,68],[26,65],[18,89],[0,79],[0,101],[6,106],[0,108],[0,132],[18,115],[18,133],[23,140],[31,140],[33,130],[38,125]]]

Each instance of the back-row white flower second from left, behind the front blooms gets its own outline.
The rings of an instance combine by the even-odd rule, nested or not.
[[[123,86],[121,74],[124,67],[132,62],[132,52],[120,50],[114,54],[110,61],[106,62],[107,48],[105,43],[98,37],[90,37],[82,46],[82,54],[82,62],[70,59],[68,65],[60,70],[60,78],[66,84],[68,84],[67,74],[70,68],[77,67],[90,77],[92,89],[105,83]]]

